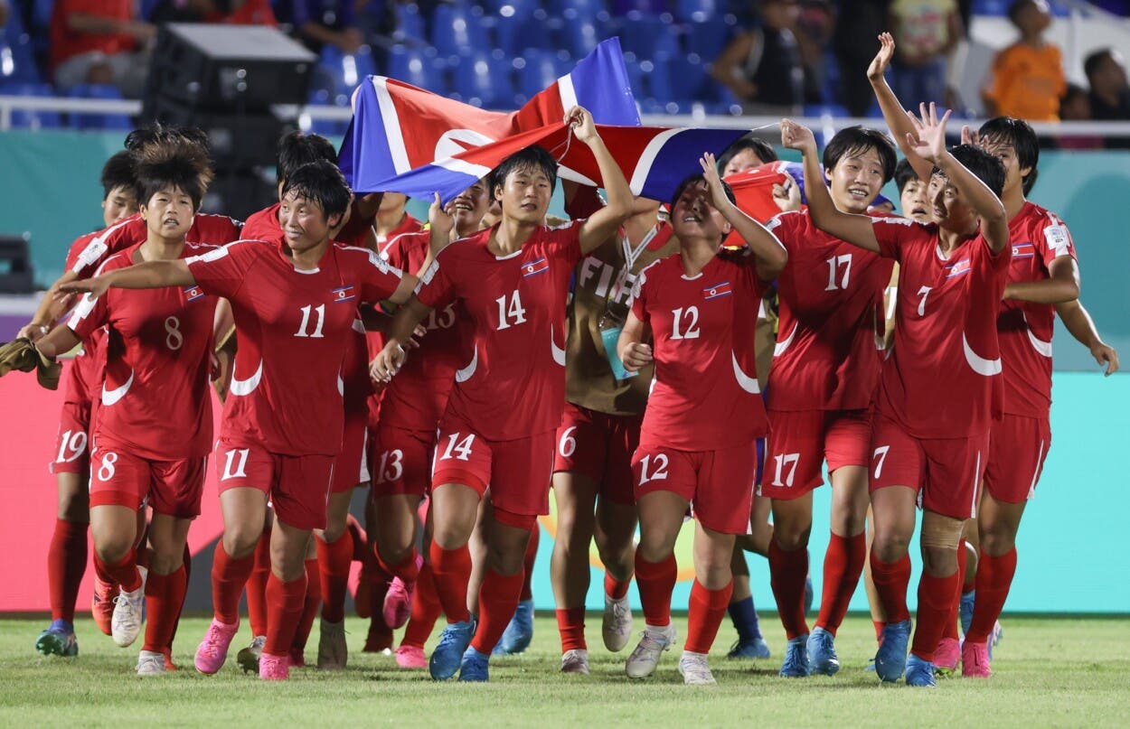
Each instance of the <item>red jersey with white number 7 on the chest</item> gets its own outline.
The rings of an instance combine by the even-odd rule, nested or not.
[[[980,235],[942,258],[937,226],[872,221],[884,256],[898,261],[895,345],[884,363],[880,413],[915,438],[968,438],[1001,412],[997,314],[1011,251]]]

